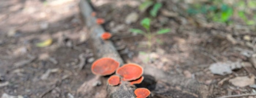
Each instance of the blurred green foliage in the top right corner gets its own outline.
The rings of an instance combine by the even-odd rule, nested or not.
[[[190,16],[203,15],[208,22],[255,25],[256,0],[203,0],[190,3],[187,12]]]

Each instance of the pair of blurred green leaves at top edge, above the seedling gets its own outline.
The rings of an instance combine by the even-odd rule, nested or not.
[[[153,8],[150,10],[149,14],[156,17],[158,11],[162,7],[162,3],[154,3],[152,0],[146,0],[139,6],[139,10],[145,12],[151,6],[153,6]]]

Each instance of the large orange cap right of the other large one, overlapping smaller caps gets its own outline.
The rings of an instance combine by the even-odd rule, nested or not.
[[[142,73],[142,67],[137,64],[125,64],[116,71],[116,74],[122,76],[124,81],[136,80],[141,77]]]

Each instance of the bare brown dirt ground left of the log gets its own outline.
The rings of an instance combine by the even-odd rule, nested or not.
[[[78,3],[79,0],[0,1],[1,98],[79,97],[77,89],[92,78],[89,65],[94,58]],[[36,46],[47,39],[53,40],[51,45]],[[81,65],[85,68],[79,68]]]

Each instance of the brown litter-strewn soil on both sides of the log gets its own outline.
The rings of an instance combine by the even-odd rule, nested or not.
[[[247,27],[236,29],[218,23],[203,25],[198,19],[177,12],[175,7],[182,3],[165,0],[162,9],[179,16],[167,17],[159,13],[153,18],[152,32],[160,28],[170,28],[171,32],[153,37],[152,47],[148,48],[145,37],[129,32],[131,28],[143,29],[140,20],[149,16],[148,11],[138,11],[138,0],[91,1],[97,17],[106,20],[103,24],[105,30],[118,38],[113,37],[112,41],[126,63],[137,63],[142,67],[153,65],[172,75],[194,78],[209,87],[212,94],[209,98],[255,92],[248,86],[236,87],[227,79],[256,75],[249,58],[242,54],[246,50],[254,53],[243,39],[244,35],[255,38]],[[90,71],[94,58],[78,3],[79,0],[0,1],[0,95],[23,98],[106,97],[108,77],[98,79]],[[126,24],[125,18],[131,12],[137,12],[139,19]],[[122,26],[121,29],[118,26]],[[238,44],[232,44],[226,37],[228,34],[237,39]],[[53,39],[51,45],[36,46],[49,38]],[[83,69],[79,68],[81,58],[86,60]],[[220,61],[247,63],[249,71],[241,68],[230,75],[214,75],[208,67]],[[227,80],[219,84],[223,79]]]

